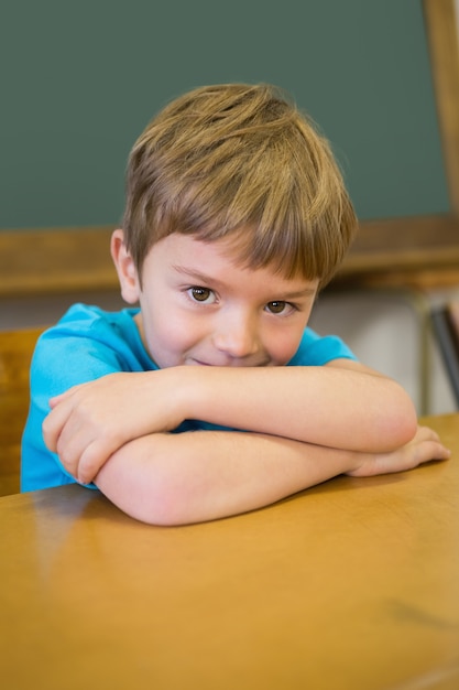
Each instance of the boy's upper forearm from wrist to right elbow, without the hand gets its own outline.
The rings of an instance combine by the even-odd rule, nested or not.
[[[335,367],[193,368],[192,417],[361,452],[386,452],[415,433],[416,414],[393,380]]]

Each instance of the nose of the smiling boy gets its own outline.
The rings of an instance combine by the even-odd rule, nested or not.
[[[214,345],[232,358],[256,354],[261,348],[256,315],[242,310],[222,313],[214,334]]]

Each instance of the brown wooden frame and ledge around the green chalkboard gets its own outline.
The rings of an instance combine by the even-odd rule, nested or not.
[[[459,41],[455,0],[423,0],[450,212],[362,222],[334,287],[459,285]],[[112,227],[0,233],[0,297],[116,290]]]

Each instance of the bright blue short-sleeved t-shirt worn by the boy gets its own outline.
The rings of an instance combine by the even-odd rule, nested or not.
[[[21,490],[75,483],[43,441],[42,424],[50,412],[50,398],[106,374],[159,368],[143,346],[133,319],[138,312],[139,309],[105,312],[97,306],[75,304],[39,338],[31,366],[31,407],[22,439]],[[340,338],[320,337],[306,328],[287,366],[323,366],[342,357],[356,359]],[[196,429],[223,427],[187,420],[175,432]]]

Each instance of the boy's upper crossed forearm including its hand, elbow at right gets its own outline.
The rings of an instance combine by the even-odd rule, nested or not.
[[[347,366],[112,374],[52,400],[43,435],[83,483],[127,443],[185,419],[356,452],[407,443],[416,431],[408,396],[385,377]]]

